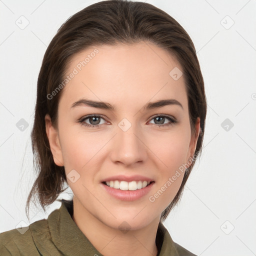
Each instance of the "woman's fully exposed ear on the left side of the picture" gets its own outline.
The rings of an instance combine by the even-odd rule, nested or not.
[[[46,134],[50,144],[50,150],[56,165],[64,166],[62,151],[59,143],[58,131],[52,126],[49,114],[44,117]]]

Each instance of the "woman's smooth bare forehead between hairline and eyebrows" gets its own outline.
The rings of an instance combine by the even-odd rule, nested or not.
[[[172,97],[186,107],[183,75],[173,79],[173,72],[182,74],[179,62],[149,42],[92,46],[69,61],[66,75],[74,75],[64,86],[60,101],[71,105],[86,97],[131,105]]]

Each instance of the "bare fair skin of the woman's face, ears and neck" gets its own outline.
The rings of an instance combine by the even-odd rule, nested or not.
[[[95,47],[74,55],[66,74]],[[180,64],[164,49],[149,43],[115,46],[101,45],[62,89],[58,105],[58,123],[53,127],[45,116],[46,133],[55,164],[65,167],[66,175],[75,169],[80,177],[73,183],[73,220],[94,247],[108,255],[156,255],[155,236],[161,212],[171,202],[181,184],[181,175],[157,198],[158,191],[179,166],[195,151],[199,134],[191,134],[188,101],[183,76],[174,80],[169,72]],[[71,105],[81,99],[108,102],[116,110]],[[173,98],[179,105],[143,110],[148,101]],[[78,120],[89,114],[101,114],[96,127],[83,126]],[[176,123],[160,127],[153,115],[165,114]],[[131,127],[123,131],[118,123],[126,118]],[[163,119],[165,123],[171,123]],[[87,118],[87,124],[93,121]],[[95,122],[94,122],[95,123]],[[100,125],[100,126],[99,126]],[[124,174],[150,177],[150,192],[134,201],[116,199],[100,185],[103,178]],[[126,221],[130,229],[118,226]]]

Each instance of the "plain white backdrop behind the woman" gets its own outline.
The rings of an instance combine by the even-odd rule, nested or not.
[[[30,131],[43,54],[59,26],[94,2],[0,1],[0,232],[29,224],[24,206],[35,179]],[[256,255],[256,1],[146,2],[190,35],[208,103],[202,157],[164,224],[195,254]],[[29,21],[24,29],[15,24],[21,15]],[[21,118],[28,123],[23,131],[16,127]],[[228,131],[221,126],[226,118],[234,124]],[[34,208],[30,222],[59,206],[46,213]]]

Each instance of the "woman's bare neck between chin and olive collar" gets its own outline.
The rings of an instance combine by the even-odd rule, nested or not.
[[[157,255],[155,244],[159,224],[157,218],[143,228],[121,231],[107,226],[90,214],[74,197],[72,219],[91,244],[104,256]]]

